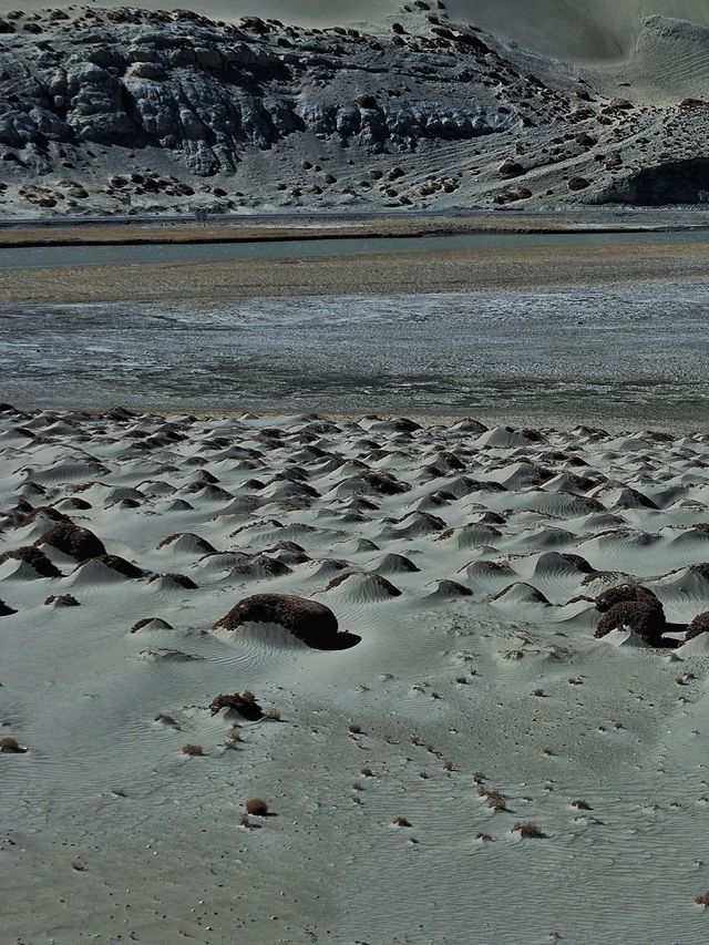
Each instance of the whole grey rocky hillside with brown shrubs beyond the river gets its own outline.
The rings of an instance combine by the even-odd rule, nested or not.
[[[641,37],[646,70],[677,41],[667,22],[654,18]],[[0,208],[703,199],[700,165],[691,193],[676,184],[678,163],[681,178],[681,162],[701,156],[709,104],[681,88],[669,101],[647,82],[634,88],[631,68],[579,72],[424,0],[371,31],[130,8],[13,11],[0,18]],[[661,182],[665,164],[671,187],[637,185],[648,168]]]

